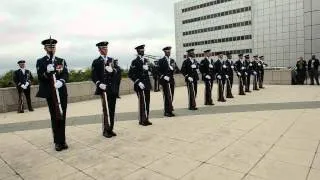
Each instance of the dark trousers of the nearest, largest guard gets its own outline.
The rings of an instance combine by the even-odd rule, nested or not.
[[[63,115],[61,118],[57,117],[60,116],[59,107],[54,104],[53,98],[47,98],[47,104],[49,107],[49,112],[51,116],[51,128],[53,132],[53,140],[56,144],[63,144],[66,142],[66,112],[67,112],[67,103],[68,97],[62,96],[60,94],[60,102],[63,111]]]

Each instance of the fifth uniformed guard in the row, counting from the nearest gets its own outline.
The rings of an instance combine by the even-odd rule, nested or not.
[[[197,110],[196,97],[199,75],[199,64],[195,58],[194,49],[187,50],[187,59],[182,63],[181,73],[185,77],[189,95],[189,110]]]

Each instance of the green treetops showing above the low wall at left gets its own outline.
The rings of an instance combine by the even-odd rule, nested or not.
[[[13,82],[13,73],[14,70],[6,72],[0,77],[0,88],[14,87],[15,83]],[[32,84],[38,84],[38,77],[36,74],[33,75]],[[122,71],[122,77],[128,77],[128,70]],[[69,72],[69,82],[82,82],[82,81],[91,81],[91,69],[87,68],[85,70],[70,70]]]

